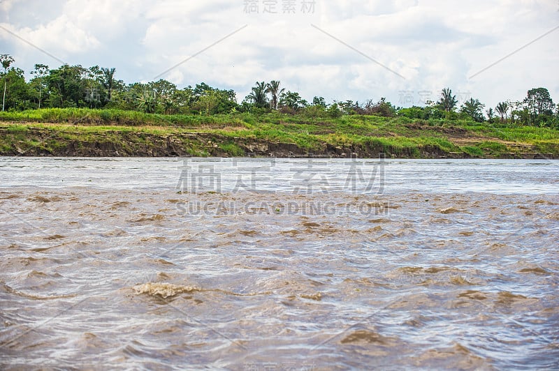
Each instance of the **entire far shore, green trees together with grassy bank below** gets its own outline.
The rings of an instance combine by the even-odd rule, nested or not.
[[[98,66],[37,64],[26,81],[13,58],[0,61],[1,155],[559,157],[559,107],[544,88],[494,109],[474,98],[458,107],[448,88],[402,108],[384,98],[309,103],[272,81],[238,103],[232,90],[124,84]]]

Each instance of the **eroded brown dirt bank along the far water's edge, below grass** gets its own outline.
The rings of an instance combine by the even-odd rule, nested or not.
[[[384,153],[392,158],[471,158],[464,151],[444,151],[434,145],[412,148],[382,144],[334,146],[319,143],[313,149],[289,142],[231,137],[207,132],[176,132],[167,135],[132,130],[55,130],[28,126],[14,131],[0,128],[0,156],[78,156],[78,157],[176,157],[245,156],[279,158],[377,158]],[[456,144],[467,138],[457,137]],[[472,138],[478,139],[478,138]],[[520,152],[493,153],[486,158],[553,158],[524,146]]]

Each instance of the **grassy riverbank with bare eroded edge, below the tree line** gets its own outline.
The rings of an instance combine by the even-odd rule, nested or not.
[[[41,111],[0,115],[0,156],[559,158],[559,131],[549,128],[358,115]]]

